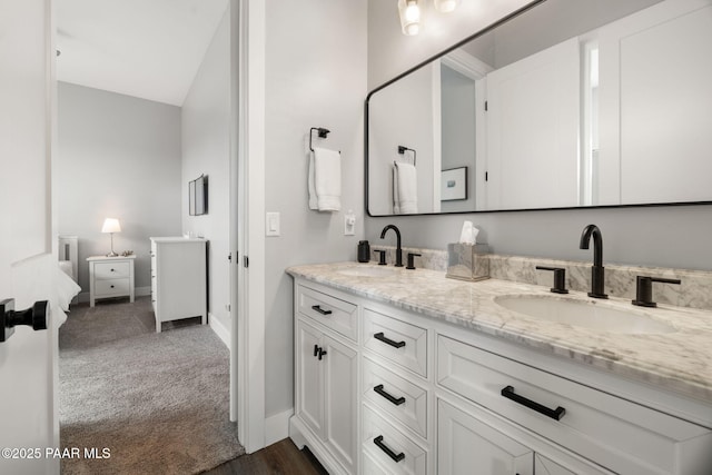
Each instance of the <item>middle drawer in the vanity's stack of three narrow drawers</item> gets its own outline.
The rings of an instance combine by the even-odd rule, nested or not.
[[[364,358],[364,399],[427,438],[427,390]]]

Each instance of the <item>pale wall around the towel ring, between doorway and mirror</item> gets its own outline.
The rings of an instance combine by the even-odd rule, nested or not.
[[[293,407],[293,279],[285,268],[356,260],[363,237],[366,31],[365,0],[266,4],[265,202],[267,211],[281,215],[281,236],[266,238],[267,417]],[[308,209],[310,127],[332,130],[315,140],[342,151],[342,212]],[[345,237],[349,209],[356,236]]]

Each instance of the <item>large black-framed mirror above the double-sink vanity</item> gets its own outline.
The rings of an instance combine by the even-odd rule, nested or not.
[[[712,201],[712,0],[545,0],[372,91],[372,216]]]

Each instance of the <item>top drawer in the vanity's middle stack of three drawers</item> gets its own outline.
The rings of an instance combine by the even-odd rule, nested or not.
[[[427,330],[424,328],[365,309],[364,346],[427,377]]]

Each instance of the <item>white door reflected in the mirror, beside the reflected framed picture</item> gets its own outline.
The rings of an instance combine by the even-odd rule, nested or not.
[[[580,70],[574,38],[487,75],[487,209],[578,205]]]

